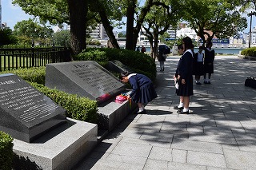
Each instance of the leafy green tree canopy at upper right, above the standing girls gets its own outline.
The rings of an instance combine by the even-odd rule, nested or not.
[[[205,43],[216,36],[227,38],[246,29],[246,18],[238,11],[239,0],[186,0],[183,20]]]

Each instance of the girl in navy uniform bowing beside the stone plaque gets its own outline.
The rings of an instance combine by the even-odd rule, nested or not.
[[[146,113],[145,105],[158,97],[150,78],[140,73],[125,72],[120,73],[119,79],[124,83],[130,82],[133,89],[127,99],[137,103],[138,113]]]

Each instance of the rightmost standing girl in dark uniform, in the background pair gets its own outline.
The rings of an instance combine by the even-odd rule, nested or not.
[[[213,46],[212,42],[206,43],[205,61],[204,61],[204,84],[210,84],[211,74],[214,73],[215,51],[214,49],[211,49],[212,46]],[[208,73],[208,79],[206,77],[207,73]]]

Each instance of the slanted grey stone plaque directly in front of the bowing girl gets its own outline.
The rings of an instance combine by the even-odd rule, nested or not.
[[[98,104],[125,90],[124,84],[95,61],[47,64],[46,86],[88,97]]]

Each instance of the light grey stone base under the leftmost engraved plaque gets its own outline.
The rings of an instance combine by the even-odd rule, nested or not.
[[[67,123],[32,143],[14,139],[14,152],[43,170],[71,169],[97,144],[98,126],[67,118]]]

